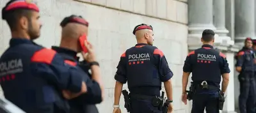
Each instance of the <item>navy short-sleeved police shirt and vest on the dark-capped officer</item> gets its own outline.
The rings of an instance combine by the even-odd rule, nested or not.
[[[188,54],[183,72],[192,72],[192,80],[196,85],[205,80],[207,84],[220,88],[221,75],[230,73],[230,69],[224,54],[211,45],[202,45],[202,48]]]

